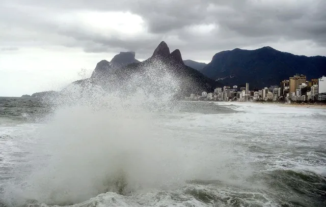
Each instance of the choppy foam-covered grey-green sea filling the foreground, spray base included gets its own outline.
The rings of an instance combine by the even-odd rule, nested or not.
[[[326,206],[325,126],[315,108],[0,98],[0,206]]]

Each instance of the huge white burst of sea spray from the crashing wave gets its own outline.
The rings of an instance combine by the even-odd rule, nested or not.
[[[30,172],[22,184],[6,187],[7,200],[67,205],[107,191],[178,188],[213,172],[213,160],[189,152],[173,133],[161,133],[157,112],[169,111],[178,88],[179,79],[162,64],[127,84],[87,80],[48,98],[55,109],[35,133]]]

